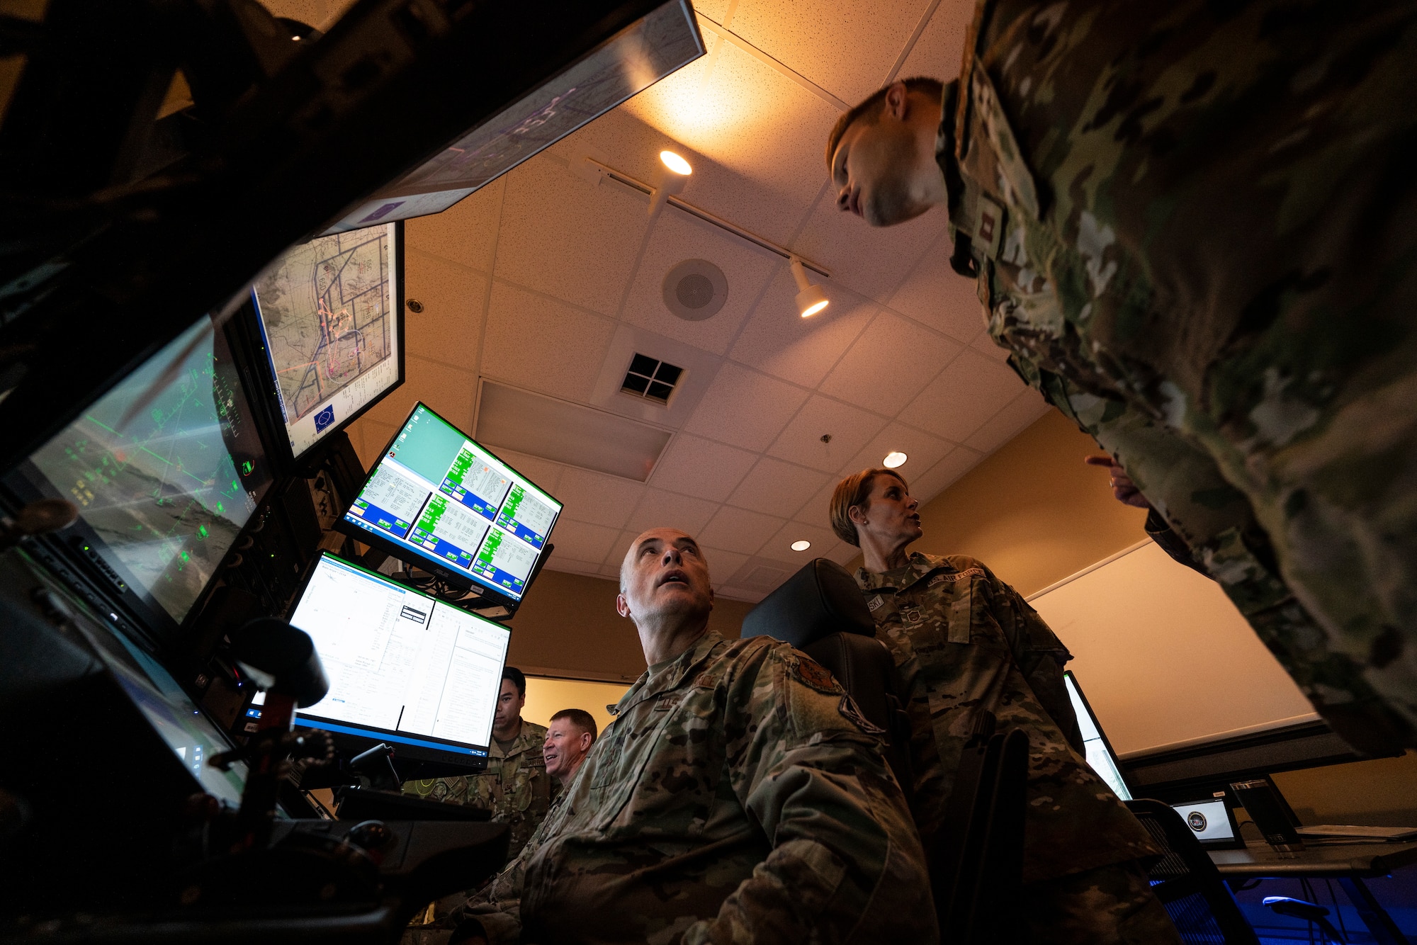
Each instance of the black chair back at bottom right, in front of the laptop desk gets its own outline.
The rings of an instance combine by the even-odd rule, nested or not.
[[[1166,907],[1182,941],[1260,945],[1216,864],[1180,815],[1161,800],[1128,800],[1127,806],[1165,850],[1151,867],[1152,891]]]

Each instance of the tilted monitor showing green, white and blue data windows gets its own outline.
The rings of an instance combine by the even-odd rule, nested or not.
[[[417,404],[340,528],[462,588],[516,605],[561,503]]]

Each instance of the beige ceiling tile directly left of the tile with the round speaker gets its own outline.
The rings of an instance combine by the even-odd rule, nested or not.
[[[497,278],[614,316],[649,224],[645,198],[574,177],[553,156],[506,180]]]

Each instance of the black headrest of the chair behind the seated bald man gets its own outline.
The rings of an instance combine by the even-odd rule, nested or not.
[[[876,636],[876,621],[846,568],[815,558],[743,618],[744,636],[771,636],[798,649],[832,633]]]

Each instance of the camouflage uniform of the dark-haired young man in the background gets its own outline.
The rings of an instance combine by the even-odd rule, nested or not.
[[[546,772],[546,759],[541,758],[544,742],[546,725],[523,718],[521,731],[510,749],[503,751],[496,740],[492,741],[487,769],[480,775],[405,781],[404,793],[490,810],[493,820],[512,825],[507,857],[514,857],[546,819],[551,798],[561,789],[560,782]]]

